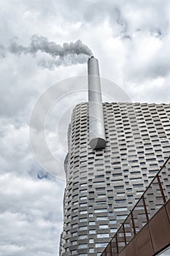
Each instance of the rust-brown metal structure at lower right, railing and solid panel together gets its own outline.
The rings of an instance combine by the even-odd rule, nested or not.
[[[170,156],[101,256],[153,256],[170,245]]]

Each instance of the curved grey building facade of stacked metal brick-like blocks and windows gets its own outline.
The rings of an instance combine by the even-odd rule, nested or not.
[[[60,255],[101,255],[170,154],[170,105],[103,103],[107,145],[89,145],[88,103],[68,132]]]

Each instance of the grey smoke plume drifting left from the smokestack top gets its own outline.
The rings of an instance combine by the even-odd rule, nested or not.
[[[0,45],[0,57],[5,58],[7,53],[20,56],[21,54],[47,53],[52,58],[43,57],[39,60],[39,65],[47,69],[54,69],[59,66],[71,66],[74,64],[83,64],[88,61],[88,57],[92,56],[92,51],[87,45],[83,44],[79,39],[76,42],[64,42],[63,46],[57,45],[55,42],[49,42],[47,37],[34,35],[31,37],[31,43],[28,46],[18,45],[12,42],[9,47]]]

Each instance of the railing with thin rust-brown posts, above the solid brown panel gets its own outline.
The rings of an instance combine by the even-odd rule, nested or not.
[[[166,159],[161,169],[152,179],[128,217],[120,225],[101,256],[117,256],[134,236],[146,225],[170,197],[170,170]]]

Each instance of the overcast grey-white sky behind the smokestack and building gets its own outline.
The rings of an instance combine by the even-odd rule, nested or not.
[[[0,0],[0,10],[0,255],[56,256],[63,218],[62,162],[74,104],[61,109],[64,102],[85,100],[62,80],[86,75],[92,50],[101,76],[132,102],[169,103],[170,2]],[[35,50],[35,38],[44,46]],[[58,54],[50,52],[48,42]],[[61,101],[48,118],[46,137],[60,178],[36,162],[29,142],[31,111],[53,84]],[[62,132],[56,136],[58,125]]]

